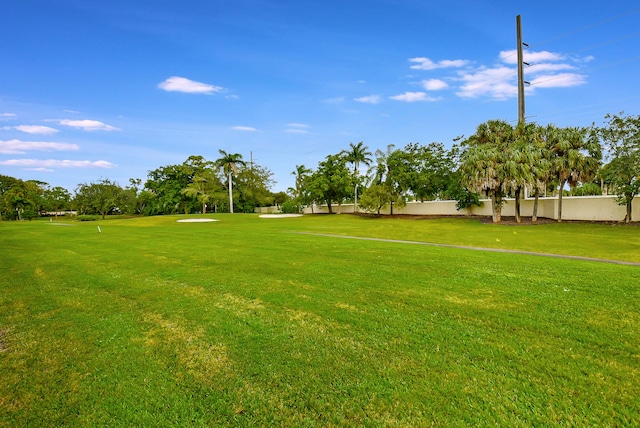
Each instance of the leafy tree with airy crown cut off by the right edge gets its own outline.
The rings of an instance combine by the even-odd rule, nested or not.
[[[625,222],[632,221],[633,199],[640,193],[640,115],[605,116],[600,136],[609,149],[611,160],[603,169],[604,179],[626,207]]]

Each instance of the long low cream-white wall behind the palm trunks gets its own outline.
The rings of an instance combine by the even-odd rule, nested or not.
[[[428,202],[409,202],[403,208],[393,208],[394,214],[410,214],[410,215],[447,215],[447,216],[464,216],[464,215],[480,215],[491,216],[491,200],[483,199],[481,207],[473,206],[471,208],[458,211],[456,209],[456,201],[428,201]],[[533,198],[520,200],[520,214],[523,217],[531,217],[533,214]],[[353,204],[342,204],[340,206],[332,205],[334,213],[353,213]],[[326,205],[314,205],[304,209],[305,214],[328,213],[329,209]],[[389,207],[380,210],[380,214],[390,214]],[[632,218],[635,221],[640,220],[640,197],[633,200]],[[505,199],[502,207],[502,215],[505,217],[515,216],[515,202],[513,199]],[[563,220],[586,220],[586,221],[622,221],[626,215],[626,207],[618,205],[615,196],[565,196],[562,198],[562,219]],[[538,201],[538,217],[550,218],[557,220],[558,218],[558,198],[540,198]]]

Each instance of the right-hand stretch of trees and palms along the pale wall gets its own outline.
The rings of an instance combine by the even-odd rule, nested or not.
[[[632,202],[640,191],[640,116],[605,116],[604,126],[556,127],[536,123],[512,125],[504,120],[480,124],[450,150],[440,143],[394,145],[373,154],[362,143],[328,155],[315,170],[296,166],[295,200],[304,205],[356,202],[357,209],[379,213],[402,207],[408,200],[457,200],[458,209],[491,200],[494,222],[501,221],[505,198],[515,203],[534,197],[537,220],[541,194],[557,195],[562,221],[564,194],[617,195],[632,220]],[[603,159],[607,163],[603,163]],[[368,167],[360,173],[360,166]],[[360,199],[358,190],[361,189]]]

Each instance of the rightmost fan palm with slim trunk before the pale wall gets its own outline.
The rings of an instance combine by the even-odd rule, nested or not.
[[[556,128],[551,125],[548,137],[552,170],[560,186],[558,222],[561,222],[564,186],[569,184],[573,188],[595,176],[602,158],[602,147],[596,134],[587,128]]]

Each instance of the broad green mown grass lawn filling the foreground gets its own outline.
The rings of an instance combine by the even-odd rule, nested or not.
[[[206,217],[0,222],[0,426],[640,424],[640,266],[323,235],[640,262],[637,226]]]

